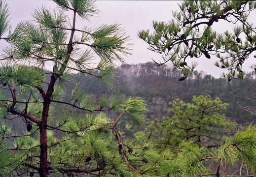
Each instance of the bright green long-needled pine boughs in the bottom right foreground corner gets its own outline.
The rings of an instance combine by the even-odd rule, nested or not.
[[[250,139],[251,134],[255,133],[255,127],[249,125],[247,128],[237,132],[236,136],[244,135],[244,138]],[[254,144],[255,142],[251,142]],[[251,148],[250,148],[251,147]],[[223,170],[223,175],[229,175],[228,169],[231,166],[236,166],[236,163],[244,163],[248,169],[254,172],[255,169],[251,165],[254,165],[255,158],[251,161],[245,162],[246,157],[253,157],[252,154],[247,153],[246,149],[255,150],[251,145],[247,144],[244,147],[238,147],[236,140],[233,138],[227,138],[223,145],[215,147],[213,149],[199,147],[193,142],[182,141],[179,147],[173,153],[169,153],[169,149],[162,151],[161,155],[165,156],[165,160],[158,161],[156,163],[157,170],[161,176],[172,176],[172,177],[198,177],[200,175],[215,175],[220,176],[221,170]],[[249,150],[249,151],[250,151]],[[243,156],[241,156],[241,153]],[[168,159],[168,160],[167,160]],[[216,164],[218,167],[213,169],[213,165]],[[250,165],[251,164],[251,165]],[[158,168],[159,165],[159,168]],[[221,168],[221,170],[220,170]],[[240,168],[240,174],[243,174],[243,165]],[[240,176],[237,173],[238,176]],[[251,175],[251,173],[245,172],[245,177]],[[230,176],[236,176],[236,173],[231,173]]]

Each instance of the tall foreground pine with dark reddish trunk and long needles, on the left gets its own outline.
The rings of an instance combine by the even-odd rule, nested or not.
[[[98,13],[94,1],[54,2],[58,9],[38,8],[35,23],[21,22],[12,31],[7,3],[0,1],[0,39],[9,43],[0,68],[0,176],[140,174],[136,167],[143,169],[142,159],[154,160],[144,157],[153,144],[142,132],[130,133],[129,141],[124,137],[131,122],[145,123],[143,99],[119,92],[96,98],[76,85],[71,100],[62,100],[74,72],[113,89],[114,63],[130,54],[129,36],[119,24],[77,29],[79,19],[86,22]],[[110,117],[109,111],[119,116]],[[12,128],[12,120],[23,132]]]

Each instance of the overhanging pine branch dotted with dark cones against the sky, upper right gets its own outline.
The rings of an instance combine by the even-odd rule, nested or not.
[[[168,23],[153,21],[153,32],[149,29],[138,32],[149,50],[162,55],[163,61],[155,63],[170,61],[187,77],[186,70],[193,71],[196,67],[189,58],[210,59],[217,54],[219,61],[215,65],[229,71],[223,77],[242,79],[242,65],[256,51],[255,26],[248,22],[256,2],[184,0],[179,7]],[[218,32],[214,27],[220,21],[232,23],[233,30]]]

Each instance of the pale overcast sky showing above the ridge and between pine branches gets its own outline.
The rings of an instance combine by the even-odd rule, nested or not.
[[[11,23],[15,26],[23,20],[33,19],[31,13],[34,9],[42,5],[54,8],[55,3],[51,0],[6,0],[9,4]],[[79,24],[82,26],[97,27],[102,24],[119,23],[126,30],[126,33],[131,37],[130,47],[133,49],[132,56],[125,57],[129,64],[144,63],[147,61],[161,60],[161,55],[151,52],[147,49],[147,44],[139,39],[137,33],[142,29],[152,29],[152,21],[168,22],[172,19],[172,10],[179,10],[178,0],[97,0],[96,5],[100,10],[98,16],[90,19],[90,22]],[[256,13],[252,14],[256,17]],[[219,23],[218,23],[219,24]],[[218,31],[224,31],[230,28],[230,24],[221,24],[215,28]],[[4,43],[0,42],[0,48]],[[215,59],[196,59],[199,63],[196,70],[203,70],[207,74],[211,74],[217,78],[224,71],[214,66]],[[249,68],[253,64],[253,56],[245,63],[243,69],[246,72],[251,71]]]

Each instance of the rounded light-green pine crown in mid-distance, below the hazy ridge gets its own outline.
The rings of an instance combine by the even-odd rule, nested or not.
[[[153,136],[158,137],[159,147],[177,146],[181,140],[190,140],[198,146],[219,144],[220,136],[233,131],[237,124],[226,120],[219,114],[228,104],[219,98],[211,100],[211,96],[193,96],[192,103],[184,103],[180,99],[169,103],[169,113],[172,116],[163,117],[154,128],[154,122],[149,126],[154,130]],[[157,133],[159,129],[159,133]]]

